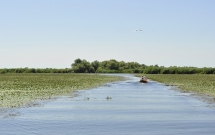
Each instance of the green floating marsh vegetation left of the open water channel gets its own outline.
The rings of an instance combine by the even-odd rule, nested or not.
[[[0,74],[0,108],[20,107],[121,79],[97,74]]]

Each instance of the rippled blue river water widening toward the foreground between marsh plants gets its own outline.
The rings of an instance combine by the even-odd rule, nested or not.
[[[1,110],[1,135],[214,135],[215,108],[169,86],[123,75],[32,107]],[[75,95],[75,97],[74,97]]]

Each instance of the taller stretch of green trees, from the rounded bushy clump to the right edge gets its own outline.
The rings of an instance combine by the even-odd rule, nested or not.
[[[158,65],[147,66],[137,62],[116,61],[93,61],[76,59],[72,64],[74,73],[143,73],[143,74],[215,74],[215,68],[204,67],[164,67]]]

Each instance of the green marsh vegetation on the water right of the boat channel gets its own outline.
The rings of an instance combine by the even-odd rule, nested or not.
[[[136,76],[140,77],[141,74]],[[215,75],[205,74],[146,74],[147,78],[170,86],[178,86],[186,92],[215,97]]]

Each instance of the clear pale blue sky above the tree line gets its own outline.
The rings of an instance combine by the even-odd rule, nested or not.
[[[214,7],[214,0],[0,0],[0,68],[70,68],[77,58],[215,67]]]

